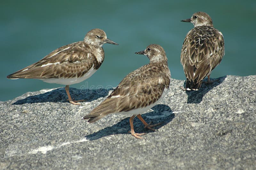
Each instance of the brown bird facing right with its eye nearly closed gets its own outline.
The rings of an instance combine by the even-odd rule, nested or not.
[[[104,43],[118,45],[108,39],[102,29],[92,29],[85,35],[84,41],[62,46],[40,61],[8,75],[7,78],[39,79],[47,83],[66,85],[68,101],[81,105],[77,102],[84,100],[73,100],[69,85],[88,79],[99,69],[104,60]]]

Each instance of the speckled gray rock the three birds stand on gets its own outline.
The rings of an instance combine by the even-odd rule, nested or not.
[[[28,92],[0,102],[0,169],[255,169],[256,76],[225,76],[199,91],[171,81],[168,94],[142,117],[163,122],[152,132],[129,117],[82,117],[112,89]]]

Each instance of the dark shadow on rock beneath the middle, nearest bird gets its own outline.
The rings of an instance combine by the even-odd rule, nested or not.
[[[172,119],[175,116],[175,114],[172,112],[171,108],[165,104],[157,104],[152,109],[154,110],[153,112],[148,112],[146,114],[142,114],[142,118],[148,123],[150,121],[152,121],[153,124],[161,122],[162,124],[154,127],[156,130],[163,127],[170,121],[172,121]],[[108,136],[108,135],[127,134],[128,131],[131,129],[129,119],[130,119],[130,117],[125,118],[111,127],[106,127],[104,129],[99,130],[98,132],[94,132],[90,135],[86,135],[85,137],[88,140],[96,140],[96,139],[99,139],[101,137]],[[136,133],[154,132],[149,129],[145,129],[144,125],[137,117],[135,117],[135,119],[133,121],[133,126],[134,126]]]

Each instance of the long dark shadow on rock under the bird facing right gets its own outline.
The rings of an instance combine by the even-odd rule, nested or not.
[[[86,102],[91,102],[93,100],[96,100],[100,97],[105,97],[108,95],[108,92],[113,89],[95,89],[95,90],[90,90],[90,89],[76,89],[76,88],[69,88],[70,95],[72,99],[74,100],[79,100],[79,99],[84,99]],[[59,88],[59,89],[54,89],[52,91],[48,91],[42,94],[34,95],[34,96],[29,96],[24,99],[20,99],[14,104],[26,104],[26,103],[46,103],[46,102],[62,102],[66,103],[68,99],[68,95],[66,93],[65,88]],[[80,102],[82,103],[82,102]]]

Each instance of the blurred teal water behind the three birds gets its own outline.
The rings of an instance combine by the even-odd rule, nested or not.
[[[40,80],[9,80],[8,74],[42,59],[56,48],[82,41],[101,28],[118,46],[105,44],[105,60],[89,79],[70,87],[115,87],[128,73],[147,64],[136,55],[151,43],[166,51],[172,78],[185,80],[180,50],[194,12],[207,12],[224,35],[225,56],[211,74],[256,74],[256,1],[6,1],[0,3],[0,100],[28,91],[64,87]]]

